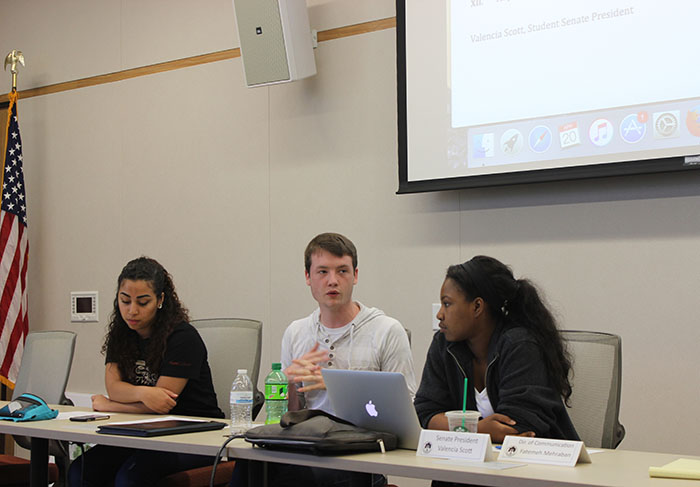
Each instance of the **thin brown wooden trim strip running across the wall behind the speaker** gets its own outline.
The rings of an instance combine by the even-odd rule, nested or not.
[[[396,27],[396,17],[371,20],[369,22],[362,22],[359,24],[347,25],[344,27],[337,27],[334,29],[319,31],[318,41],[326,42],[334,39],[341,39],[343,37],[350,37],[355,35],[368,34],[370,32],[377,32],[385,29],[392,29],[394,27]],[[233,59],[240,56],[241,50],[239,48],[226,49],[224,51],[217,51],[209,54],[201,54],[199,56],[191,56],[187,58],[176,59],[174,61],[166,61],[158,64],[151,64],[149,66],[141,66],[139,68],[126,69],[124,71],[117,71],[114,73],[90,76],[88,78],[82,78],[73,81],[65,81],[63,83],[56,83],[53,85],[40,86],[37,88],[18,91],[17,94],[18,98],[32,98],[35,96],[50,95],[53,93],[60,93],[61,91],[77,90],[89,86],[114,83],[116,81],[137,78],[139,76],[148,76],[151,74],[172,71],[175,69],[189,68],[191,66],[224,61],[226,59]],[[8,101],[7,95],[0,95],[0,103],[6,101]]]

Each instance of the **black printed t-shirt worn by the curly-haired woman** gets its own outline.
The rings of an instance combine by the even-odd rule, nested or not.
[[[177,398],[170,414],[223,418],[224,413],[216,403],[216,393],[207,362],[207,348],[194,326],[182,322],[175,326],[165,344],[165,355],[160,370],[152,372],[144,360],[148,339],[139,339],[139,359],[134,364],[134,385],[154,386],[161,375],[187,379],[187,384]],[[115,362],[107,350],[106,362]]]

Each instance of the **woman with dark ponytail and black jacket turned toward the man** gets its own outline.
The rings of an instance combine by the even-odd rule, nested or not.
[[[423,428],[447,429],[446,411],[478,410],[479,433],[578,440],[565,403],[571,361],[537,289],[492,257],[453,265],[440,291],[433,337],[415,398]]]

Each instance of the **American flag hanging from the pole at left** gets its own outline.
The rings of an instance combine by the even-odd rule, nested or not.
[[[27,201],[17,93],[10,93],[0,205],[0,382],[14,387],[22,360],[27,321]]]

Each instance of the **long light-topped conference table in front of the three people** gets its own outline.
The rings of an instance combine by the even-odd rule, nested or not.
[[[0,407],[5,403],[0,401]],[[72,406],[52,406],[62,413],[89,411]],[[32,438],[31,485],[45,486],[48,464],[48,440],[98,443],[146,450],[173,451],[214,456],[227,439],[227,429],[186,433],[154,438],[105,435],[96,432],[106,422],[154,419],[153,415],[111,413],[109,420],[80,423],[68,419],[14,423],[0,421],[0,433],[24,435]],[[528,486],[596,486],[596,487],[690,487],[692,480],[650,478],[649,466],[665,465],[678,458],[698,457],[666,453],[601,450],[591,455],[592,463],[576,467],[551,465],[518,465],[515,468],[493,469],[489,463],[475,464],[416,456],[411,450],[386,453],[362,453],[340,456],[315,456],[303,453],[274,451],[253,447],[243,439],[228,444],[229,458],[249,460],[256,465],[267,462],[324,467],[331,469],[372,472],[390,476],[413,477],[472,485],[496,487]]]

